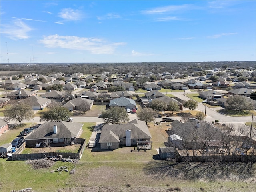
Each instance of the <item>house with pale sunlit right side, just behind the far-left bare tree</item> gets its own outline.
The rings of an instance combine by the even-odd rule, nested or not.
[[[33,110],[41,110],[47,107],[52,100],[38,96],[31,96],[24,100],[24,102],[32,107]]]

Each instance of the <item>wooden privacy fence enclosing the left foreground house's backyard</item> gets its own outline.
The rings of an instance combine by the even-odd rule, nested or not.
[[[85,139],[76,138],[75,144],[81,144],[77,153],[60,153],[60,152],[45,152],[45,153],[30,153],[30,154],[12,154],[12,160],[28,160],[28,159],[40,159],[45,157],[56,157],[62,155],[63,158],[80,159],[86,147]]]

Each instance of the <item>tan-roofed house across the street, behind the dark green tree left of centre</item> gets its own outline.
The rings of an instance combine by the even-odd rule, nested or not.
[[[74,110],[81,110],[79,108],[81,106],[84,109],[88,108],[88,110],[90,110],[92,108],[92,105],[93,105],[93,100],[77,97],[68,101],[62,107],[67,108],[68,110],[74,111]]]

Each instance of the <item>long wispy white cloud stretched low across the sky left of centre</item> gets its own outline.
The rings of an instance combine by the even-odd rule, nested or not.
[[[125,44],[123,42],[109,43],[98,38],[59,36],[58,34],[46,36],[39,42],[49,48],[86,50],[92,54],[113,54],[117,46]]]

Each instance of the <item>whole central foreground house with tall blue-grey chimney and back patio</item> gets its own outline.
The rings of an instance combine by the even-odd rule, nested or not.
[[[146,122],[134,119],[124,124],[108,123],[100,134],[101,149],[118,149],[119,146],[137,146],[151,149],[151,134]]]

